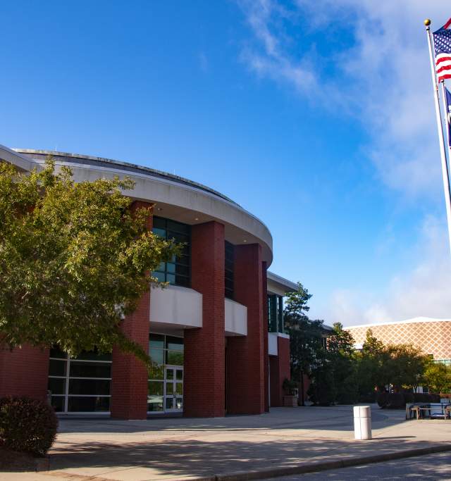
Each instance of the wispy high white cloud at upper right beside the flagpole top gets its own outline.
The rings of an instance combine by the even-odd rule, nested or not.
[[[437,0],[238,0],[255,42],[241,59],[259,77],[291,85],[340,114],[356,115],[368,130],[365,146],[381,181],[407,196],[437,196],[440,160],[428,48],[423,20],[447,20],[449,2]],[[345,25],[354,42],[320,56],[310,45],[292,48],[297,28],[327,32]],[[295,54],[293,54],[295,51]],[[321,65],[323,68],[321,69]],[[325,65],[335,65],[328,77]],[[321,77],[321,80],[319,79]],[[321,90],[320,90],[321,87]],[[333,102],[330,102],[330,99]]]

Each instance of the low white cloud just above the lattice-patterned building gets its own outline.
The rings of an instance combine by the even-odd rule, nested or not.
[[[393,275],[379,299],[356,289],[333,292],[326,319],[357,325],[417,316],[451,318],[450,247],[443,224],[427,218],[412,254],[418,257],[416,265]]]

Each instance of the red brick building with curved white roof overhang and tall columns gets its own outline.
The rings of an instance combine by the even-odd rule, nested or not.
[[[11,150],[0,161],[39,168],[48,154],[68,165],[74,180],[128,175],[127,192],[152,205],[149,228],[185,243],[183,254],[154,273],[166,289],[144,294],[123,321],[126,334],[155,361],[144,365],[116,349],[70,359],[59,349],[0,346],[0,396],[45,399],[61,414],[95,413],[142,419],[259,414],[282,404],[290,377],[290,339],[283,333],[283,296],[297,286],[268,272],[268,228],[209,187],[139,165],[59,152]]]

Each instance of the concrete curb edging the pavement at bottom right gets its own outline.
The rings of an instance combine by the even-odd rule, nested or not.
[[[405,449],[404,451],[393,451],[391,453],[374,454],[372,456],[361,456],[337,461],[313,461],[311,463],[287,466],[284,468],[269,468],[255,471],[240,471],[211,477],[195,478],[196,481],[247,481],[263,480],[269,477],[281,477],[296,474],[316,473],[329,469],[348,468],[350,466],[362,466],[364,464],[381,463],[393,459],[411,458],[413,456],[424,456],[425,454],[444,453],[451,451],[451,444],[435,444],[423,448]],[[193,480],[194,481],[194,480]]]

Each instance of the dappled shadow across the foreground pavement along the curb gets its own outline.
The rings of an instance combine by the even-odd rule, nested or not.
[[[107,473],[111,473],[111,477],[115,479],[117,476],[113,475],[113,472],[121,473],[130,468],[150,468],[153,470],[152,476],[207,476],[242,470],[280,468],[313,460],[329,461],[348,456],[369,456],[426,445],[426,442],[407,441],[402,438],[396,438],[392,442],[378,441],[377,445],[340,439],[304,439],[302,442],[159,439],[157,442],[129,444],[59,442],[56,449],[52,450],[50,468],[72,468],[76,473],[106,477]]]

